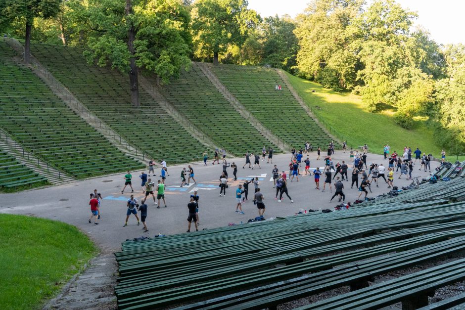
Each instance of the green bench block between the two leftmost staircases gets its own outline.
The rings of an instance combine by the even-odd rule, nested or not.
[[[105,137],[74,114],[29,69],[12,61],[0,41],[0,127],[37,156],[74,177],[139,168]]]

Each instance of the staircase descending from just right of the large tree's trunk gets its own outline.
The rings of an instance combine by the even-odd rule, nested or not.
[[[155,100],[162,110],[171,116],[179,125],[181,125],[187,133],[196,138],[202,145],[207,149],[222,149],[223,147],[212,139],[210,139],[205,133],[196,128],[184,115],[179,111],[171,102],[169,102],[153,85],[144,77],[139,74],[139,85],[144,89],[152,98]],[[226,149],[225,149],[226,150]],[[228,154],[233,154],[226,150]]]

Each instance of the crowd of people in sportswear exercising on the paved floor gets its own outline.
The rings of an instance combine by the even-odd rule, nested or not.
[[[346,142],[343,142],[342,150],[346,152]],[[327,154],[326,157],[323,158],[324,160],[324,168],[323,171],[320,170],[319,167],[310,170],[310,159],[309,159],[309,152],[313,151],[313,146],[306,142],[305,149],[301,148],[299,150],[292,149],[291,150],[291,158],[288,166],[289,173],[286,174],[285,170],[280,170],[277,165],[273,166],[272,175],[273,175],[273,188],[275,193],[275,200],[279,203],[283,200],[283,196],[287,196],[290,203],[293,203],[289,191],[288,191],[288,184],[289,182],[299,182],[299,177],[305,176],[314,176],[315,182],[315,189],[320,190],[320,178],[324,177],[323,188],[321,188],[321,192],[325,192],[329,190],[331,193],[331,197],[329,202],[332,202],[335,197],[338,197],[338,202],[342,201],[345,203],[346,195],[344,194],[344,190],[346,186],[344,186],[344,181],[348,182],[348,171],[351,170],[351,188],[354,188],[354,184],[356,189],[359,191],[359,195],[357,199],[360,199],[363,196],[363,199],[367,199],[368,192],[372,192],[371,186],[375,185],[379,187],[380,181],[384,181],[387,184],[387,188],[394,187],[394,176],[399,175],[398,178],[401,178],[405,175],[406,179],[412,178],[412,172],[414,170],[414,166],[418,163],[419,170],[423,170],[424,172],[429,171],[431,172],[430,162],[432,160],[431,154],[426,155],[425,152],[421,152],[419,148],[412,151],[412,148],[405,147],[404,152],[400,155],[397,151],[393,151],[391,153],[389,145],[384,146],[383,154],[384,160],[387,161],[387,167],[384,166],[383,163],[374,163],[368,164],[368,145],[365,144],[361,147],[361,152],[359,153],[358,150],[353,150],[350,148],[349,151],[349,161],[348,163],[345,160],[341,162],[334,163],[331,156],[334,154],[334,142],[330,142],[327,147]],[[262,162],[267,164],[273,164],[273,148],[269,147],[266,148],[265,146],[262,148]],[[220,197],[226,197],[227,189],[229,188],[229,176],[228,176],[228,168],[233,169],[233,178],[232,181],[237,180],[237,165],[233,163],[228,163],[226,159],[226,151],[222,149],[221,151],[216,149],[214,154],[214,161],[212,165],[220,165],[220,154],[222,156],[222,173],[219,177],[219,187],[220,187]],[[442,154],[442,161],[445,161],[445,151],[441,152]],[[268,155],[268,156],[267,156]],[[321,160],[321,147],[317,147],[317,160]],[[413,158],[415,156],[415,160]],[[260,155],[254,154],[252,152],[247,151],[244,154],[245,163],[242,166],[242,169],[245,169],[248,165],[248,168],[253,170],[256,166],[260,167]],[[268,157],[268,158],[267,158]],[[304,158],[305,157],[305,158]],[[251,162],[251,158],[254,160],[253,166]],[[208,160],[208,153],[205,152],[203,154],[203,161],[204,165],[207,165]],[[163,202],[163,206],[167,208],[166,199],[165,199],[165,181],[168,174],[168,168],[166,162],[162,159],[161,163],[161,171],[160,171],[160,179],[156,182],[152,181],[150,177],[150,173],[152,173],[152,177],[156,177],[154,172],[155,162],[153,159],[150,159],[148,162],[148,174],[145,172],[141,172],[139,178],[141,179],[141,191],[144,195],[144,198],[141,199],[141,204],[139,205],[138,200],[131,194],[131,197],[127,200],[127,212],[126,212],[126,220],[123,226],[128,225],[128,221],[131,215],[134,215],[137,220],[137,225],[140,225],[142,222],[143,229],[145,232],[148,231],[145,219],[147,217],[147,199],[151,198],[154,201],[154,204],[157,208],[160,208],[161,202]],[[350,166],[350,168],[349,168]],[[417,166],[418,167],[418,166]],[[303,171],[301,171],[303,168]],[[187,180],[186,180],[187,176]],[[132,186],[132,174],[130,171],[124,176],[124,187],[121,193],[124,193],[124,190],[129,185],[131,188],[131,193],[134,193],[134,188]],[[190,186],[190,180],[196,184],[194,178],[194,170],[191,165],[183,168],[181,170],[181,183],[180,187]],[[266,207],[264,204],[265,197],[263,192],[260,189],[260,181],[258,177],[252,177],[250,179],[244,179],[243,182],[240,182],[235,189],[235,213],[238,214],[245,214],[242,210],[242,204],[248,201],[248,193],[249,193],[249,184],[252,183],[254,187],[254,194],[252,195],[252,201],[254,205],[256,205],[258,209],[259,217],[264,216]],[[348,186],[347,186],[348,187]],[[334,188],[334,193],[333,193]],[[156,195],[156,197],[155,197]],[[89,205],[91,206],[92,215],[89,218],[89,223],[92,223],[92,218],[94,218],[94,225],[98,224],[100,220],[100,200],[103,199],[100,193],[97,192],[95,189],[93,193],[91,193],[91,200]],[[189,202],[187,203],[188,209],[188,228],[187,232],[190,231],[191,222],[194,222],[195,229],[198,230],[199,222],[199,195],[197,191],[194,191],[192,195],[189,197]],[[140,219],[138,216],[140,213]]]

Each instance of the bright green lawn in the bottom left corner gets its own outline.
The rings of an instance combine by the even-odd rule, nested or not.
[[[96,253],[69,224],[0,214],[0,309],[40,309]]]

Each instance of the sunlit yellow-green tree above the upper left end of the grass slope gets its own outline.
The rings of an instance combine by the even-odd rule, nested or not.
[[[363,0],[313,0],[297,17],[299,75],[333,89],[354,88],[358,59],[353,42],[360,34],[352,24],[363,4]]]

